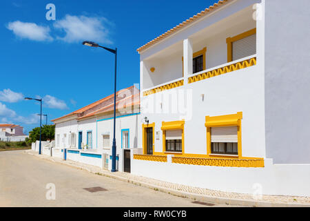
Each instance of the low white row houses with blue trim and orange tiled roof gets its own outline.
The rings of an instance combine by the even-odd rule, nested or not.
[[[111,167],[114,135],[114,95],[105,97],[63,117],[53,119],[55,147],[52,155],[94,166]],[[116,154],[118,171],[124,167],[124,155],[130,160],[130,149],[138,146],[140,95],[135,86],[116,93]],[[128,150],[126,153],[125,151]]]

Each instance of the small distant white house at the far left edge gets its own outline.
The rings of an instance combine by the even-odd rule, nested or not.
[[[25,141],[28,135],[23,133],[23,127],[15,124],[0,124],[0,141]]]

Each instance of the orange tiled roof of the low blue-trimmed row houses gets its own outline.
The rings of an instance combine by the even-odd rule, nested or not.
[[[130,86],[129,88],[118,90],[116,92],[116,104],[118,104],[122,100],[120,98],[122,93],[125,95],[125,92],[127,90],[133,90],[133,92],[134,92],[134,89],[138,90],[135,86]],[[120,96],[118,96],[118,95],[120,95]],[[139,93],[137,93],[137,95],[139,95]],[[130,97],[132,97],[132,96],[130,96]],[[70,117],[70,116],[73,116],[73,115],[76,115],[77,119],[82,119],[82,118],[85,118],[85,117],[90,117],[90,116],[92,116],[92,113],[97,113],[98,111],[103,110],[105,107],[114,104],[114,99],[113,98],[114,98],[114,94],[109,95],[107,97],[104,97],[103,99],[99,99],[99,101],[96,101],[96,102],[94,102],[92,104],[84,106],[83,108],[80,108],[77,111],[69,113],[68,115],[64,115],[62,117],[59,117],[59,118],[56,118],[56,119],[52,119],[52,122],[55,122],[56,120],[59,120],[59,119],[65,119],[66,117]],[[127,98],[129,98],[129,97],[127,97]],[[96,109],[96,108],[99,108],[99,109]]]

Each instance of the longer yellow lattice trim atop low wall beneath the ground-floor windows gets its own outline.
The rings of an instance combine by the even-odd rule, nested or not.
[[[230,166],[230,167],[264,167],[263,159],[212,159],[193,157],[172,157],[174,164],[192,164],[200,166]]]

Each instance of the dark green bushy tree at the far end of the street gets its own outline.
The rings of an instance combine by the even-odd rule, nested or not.
[[[41,131],[41,140],[54,140],[55,137],[55,125],[43,125]],[[26,140],[28,144],[36,142],[36,140],[40,140],[40,127],[33,128],[32,131],[29,132],[29,139]]]

